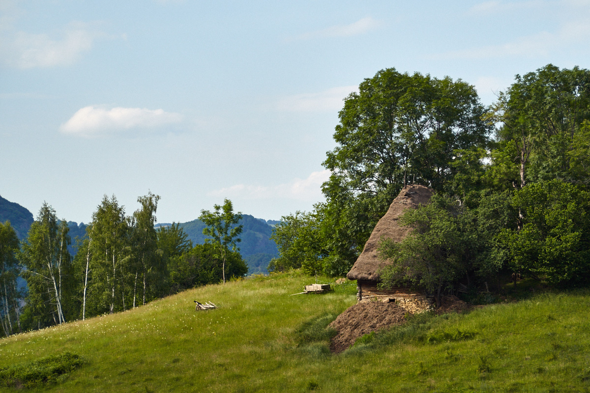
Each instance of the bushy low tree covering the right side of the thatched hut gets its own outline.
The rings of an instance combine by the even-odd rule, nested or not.
[[[391,265],[382,269],[382,285],[414,286],[432,293],[440,304],[441,292],[465,278],[494,278],[508,259],[499,240],[502,229],[514,222],[507,193],[486,193],[470,209],[461,200],[441,194],[427,206],[408,209],[401,224],[412,228],[401,243],[384,239],[379,253]],[[497,277],[497,276],[496,276]]]

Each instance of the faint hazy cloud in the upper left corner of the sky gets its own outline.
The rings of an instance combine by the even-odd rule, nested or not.
[[[6,64],[24,70],[70,65],[90,51],[95,39],[106,36],[92,24],[80,22],[71,23],[56,35],[50,37],[47,33],[25,31],[4,34],[1,56]]]

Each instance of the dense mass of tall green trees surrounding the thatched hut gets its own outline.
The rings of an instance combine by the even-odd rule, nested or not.
[[[554,285],[590,280],[590,71],[546,65],[486,107],[475,88],[395,68],[339,112],[323,166],[326,202],[283,217],[269,270],[342,276],[406,184],[435,190],[409,211],[412,235],[383,241],[382,285],[431,293],[496,283],[499,273]]]

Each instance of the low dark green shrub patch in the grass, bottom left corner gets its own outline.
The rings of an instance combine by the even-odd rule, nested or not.
[[[0,386],[20,389],[55,384],[83,364],[81,356],[71,352],[45,356],[36,361],[1,368]]]

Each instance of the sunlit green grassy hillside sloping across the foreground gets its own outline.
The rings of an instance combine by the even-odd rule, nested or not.
[[[330,355],[326,342],[296,332],[344,311],[356,289],[289,296],[311,282],[290,273],[211,285],[118,315],[12,336],[0,340],[0,366],[65,351],[84,358],[60,384],[31,389],[44,392],[590,389],[588,291],[536,295],[464,315],[422,315]],[[219,308],[195,312],[195,299]],[[304,326],[309,331],[314,323]]]

